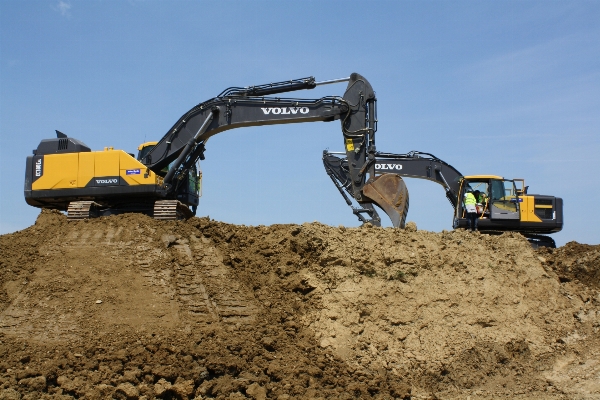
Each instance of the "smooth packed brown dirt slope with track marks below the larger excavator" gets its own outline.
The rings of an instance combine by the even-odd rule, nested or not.
[[[11,302],[0,313],[0,331],[61,341],[89,331],[82,327],[88,319],[150,329],[182,319],[248,323],[257,313],[252,292],[231,276],[217,248],[201,235],[163,246],[148,226],[124,233],[122,226],[84,221],[67,228],[39,247],[48,263],[44,268],[25,285],[7,283]]]

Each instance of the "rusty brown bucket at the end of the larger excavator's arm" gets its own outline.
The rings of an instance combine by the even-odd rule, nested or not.
[[[408,189],[396,174],[383,174],[369,179],[363,194],[373,200],[392,220],[394,228],[404,229],[408,213]]]

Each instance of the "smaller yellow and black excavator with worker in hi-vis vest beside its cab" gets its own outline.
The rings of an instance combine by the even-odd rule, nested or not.
[[[473,192],[479,194],[478,230],[487,233],[520,232],[533,247],[556,247],[554,240],[546,235],[562,230],[563,200],[560,197],[528,193],[529,187],[525,186],[524,179],[505,179],[497,175],[464,176],[433,154],[418,151],[406,154],[376,152],[369,162],[373,164],[375,174],[367,180],[364,192],[372,199],[379,199],[377,204],[382,207],[397,207],[390,199],[396,193],[395,187],[402,177],[426,179],[444,187],[446,198],[454,210],[453,228],[467,227],[463,199],[467,192]],[[351,194],[348,190],[348,160],[345,155],[324,151],[323,165],[346,202],[351,205],[348,197]],[[406,216],[408,197],[402,202]]]

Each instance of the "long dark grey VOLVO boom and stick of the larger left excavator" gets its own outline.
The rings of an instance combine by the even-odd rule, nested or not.
[[[320,99],[267,97],[274,94],[312,89],[318,85],[348,81],[342,97]],[[376,98],[369,82],[357,73],[350,78],[315,82],[313,77],[246,88],[229,88],[185,113],[156,146],[142,159],[152,171],[164,176],[168,197],[189,168],[204,159],[208,139],[220,132],[250,126],[329,122],[340,120],[346,147],[348,186],[352,197],[369,214],[365,222],[379,225],[370,198],[362,197],[367,173],[374,173]]]

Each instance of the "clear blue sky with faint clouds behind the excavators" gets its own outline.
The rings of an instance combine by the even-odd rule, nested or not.
[[[377,93],[378,150],[525,178],[564,199],[559,245],[598,244],[598,21],[599,1],[0,1],[0,233],[35,221],[25,158],[55,129],[135,152],[227,87],[358,72]],[[211,138],[199,215],[357,226],[326,148],[343,149],[338,122]],[[407,185],[408,219],[451,229],[442,187]]]

